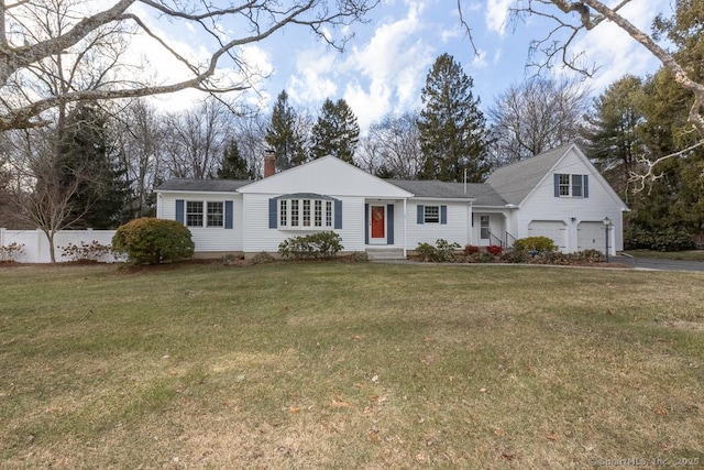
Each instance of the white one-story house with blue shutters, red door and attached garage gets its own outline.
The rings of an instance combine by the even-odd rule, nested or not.
[[[576,145],[504,166],[486,183],[382,179],[326,156],[249,181],[172,179],[160,218],[191,231],[198,255],[276,252],[290,237],[334,230],[345,251],[402,258],[419,242],[510,245],[547,236],[563,252],[623,250],[628,210]],[[606,232],[604,220],[612,226]]]

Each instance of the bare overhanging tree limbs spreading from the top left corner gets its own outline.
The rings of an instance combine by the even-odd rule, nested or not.
[[[195,88],[207,91],[242,90],[250,87],[255,73],[242,57],[241,47],[263,41],[286,26],[304,26],[334,47],[342,47],[349,36],[336,39],[331,30],[361,21],[377,0],[285,0],[285,1],[34,1],[0,0],[0,130],[41,125],[46,112],[61,103],[76,100],[105,100],[168,94]],[[66,28],[52,31],[48,37],[36,37],[37,19],[52,13],[57,6],[70,20]],[[208,37],[208,58],[196,61],[178,50],[160,22],[176,28],[196,29]],[[221,28],[223,23],[233,28]],[[100,31],[116,31],[121,37],[142,35],[153,40],[161,51],[183,65],[188,76],[174,74],[170,81],[145,77],[130,67],[139,64],[119,62],[124,74],[116,75],[109,85],[90,89],[62,89],[56,95],[25,92],[37,64],[61,55],[79,56],[86,43]],[[235,33],[232,33],[235,32]],[[118,65],[118,63],[116,63]],[[237,74],[219,76],[220,67]]]

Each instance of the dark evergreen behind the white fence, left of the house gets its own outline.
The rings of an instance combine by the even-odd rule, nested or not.
[[[127,171],[114,159],[107,120],[98,108],[81,103],[68,113],[59,153],[62,185],[77,188],[72,197],[76,226],[120,226],[128,208]]]

